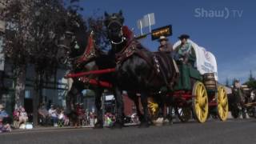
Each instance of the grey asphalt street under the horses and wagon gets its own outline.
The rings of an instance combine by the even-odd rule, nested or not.
[[[171,126],[150,126],[149,128],[128,126],[122,130],[110,128],[17,130],[0,134],[0,144],[256,144],[255,134],[256,119],[253,118],[229,119],[226,122],[210,120],[203,124],[176,122]]]

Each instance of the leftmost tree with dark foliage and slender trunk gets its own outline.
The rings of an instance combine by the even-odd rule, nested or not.
[[[26,1],[24,1],[26,2]],[[15,87],[15,107],[22,106],[24,98],[26,63],[29,61],[29,51],[26,47],[30,46],[30,37],[27,33],[30,21],[26,18],[28,9],[25,3],[10,1],[6,6],[6,38],[4,53],[6,58],[14,64],[14,76],[16,79]]]

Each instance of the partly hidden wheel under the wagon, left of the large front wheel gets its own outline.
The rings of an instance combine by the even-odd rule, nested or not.
[[[175,114],[178,115],[178,119],[181,122],[188,122],[192,116],[190,107],[175,106]]]

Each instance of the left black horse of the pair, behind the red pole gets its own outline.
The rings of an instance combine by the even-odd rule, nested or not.
[[[111,59],[102,50],[99,50],[94,43],[93,32],[88,32],[86,26],[83,25],[82,18],[74,16],[70,18],[68,22],[66,33],[59,42],[61,47],[60,54],[66,55],[65,60],[70,65],[71,73],[86,72],[90,70],[102,70],[115,67],[114,59]],[[102,86],[94,86],[89,83],[88,80],[96,79],[97,82],[114,82],[113,74],[101,74],[101,75],[86,75],[86,78],[72,78],[73,84],[66,96],[67,110],[74,111],[74,103],[77,102],[77,98],[82,96],[82,90],[90,89],[95,92],[95,106],[97,112],[97,123],[95,128],[102,128],[102,93],[106,89]],[[115,86],[109,88],[114,91]],[[115,95],[116,96],[116,95]],[[118,95],[119,96],[119,95]],[[115,97],[117,107],[117,120],[122,119],[122,96]],[[118,124],[114,125],[118,126]]]

